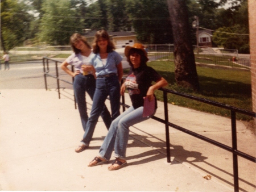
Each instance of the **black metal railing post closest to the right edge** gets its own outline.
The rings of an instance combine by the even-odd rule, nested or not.
[[[238,160],[234,151],[237,151],[237,125],[236,112],[231,110],[231,127],[232,127],[232,148],[233,148],[233,175],[234,175],[234,191],[239,191],[238,183]]]

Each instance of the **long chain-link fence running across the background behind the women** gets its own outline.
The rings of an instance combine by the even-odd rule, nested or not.
[[[145,44],[148,58],[151,61],[174,61],[173,44]],[[236,49],[221,49],[193,46],[197,64],[213,64],[231,67],[250,68],[250,55],[241,55]],[[123,48],[116,49],[123,53]],[[42,57],[55,57],[61,54],[71,54],[71,46],[41,46],[41,47],[16,47],[10,51],[11,62],[15,60],[39,60]],[[23,58],[24,57],[24,58]]]

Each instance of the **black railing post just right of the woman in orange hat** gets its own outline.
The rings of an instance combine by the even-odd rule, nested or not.
[[[170,135],[169,135],[169,126],[168,126],[168,102],[167,102],[167,91],[163,91],[164,97],[164,120],[166,125],[166,155],[167,155],[167,162],[171,162],[171,153],[170,153]]]

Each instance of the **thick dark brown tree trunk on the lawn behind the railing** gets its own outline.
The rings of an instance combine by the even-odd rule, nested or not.
[[[175,80],[177,85],[199,90],[185,0],[167,0],[174,35]]]

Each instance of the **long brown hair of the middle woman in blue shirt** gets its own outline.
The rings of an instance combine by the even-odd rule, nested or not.
[[[100,31],[97,31],[94,36],[93,45],[92,45],[93,53],[100,53],[100,47],[98,47],[97,42],[101,38],[106,39],[108,41],[107,52],[108,53],[112,52],[113,49],[115,49],[114,43],[110,39],[108,32],[106,32],[105,30],[100,30]]]

